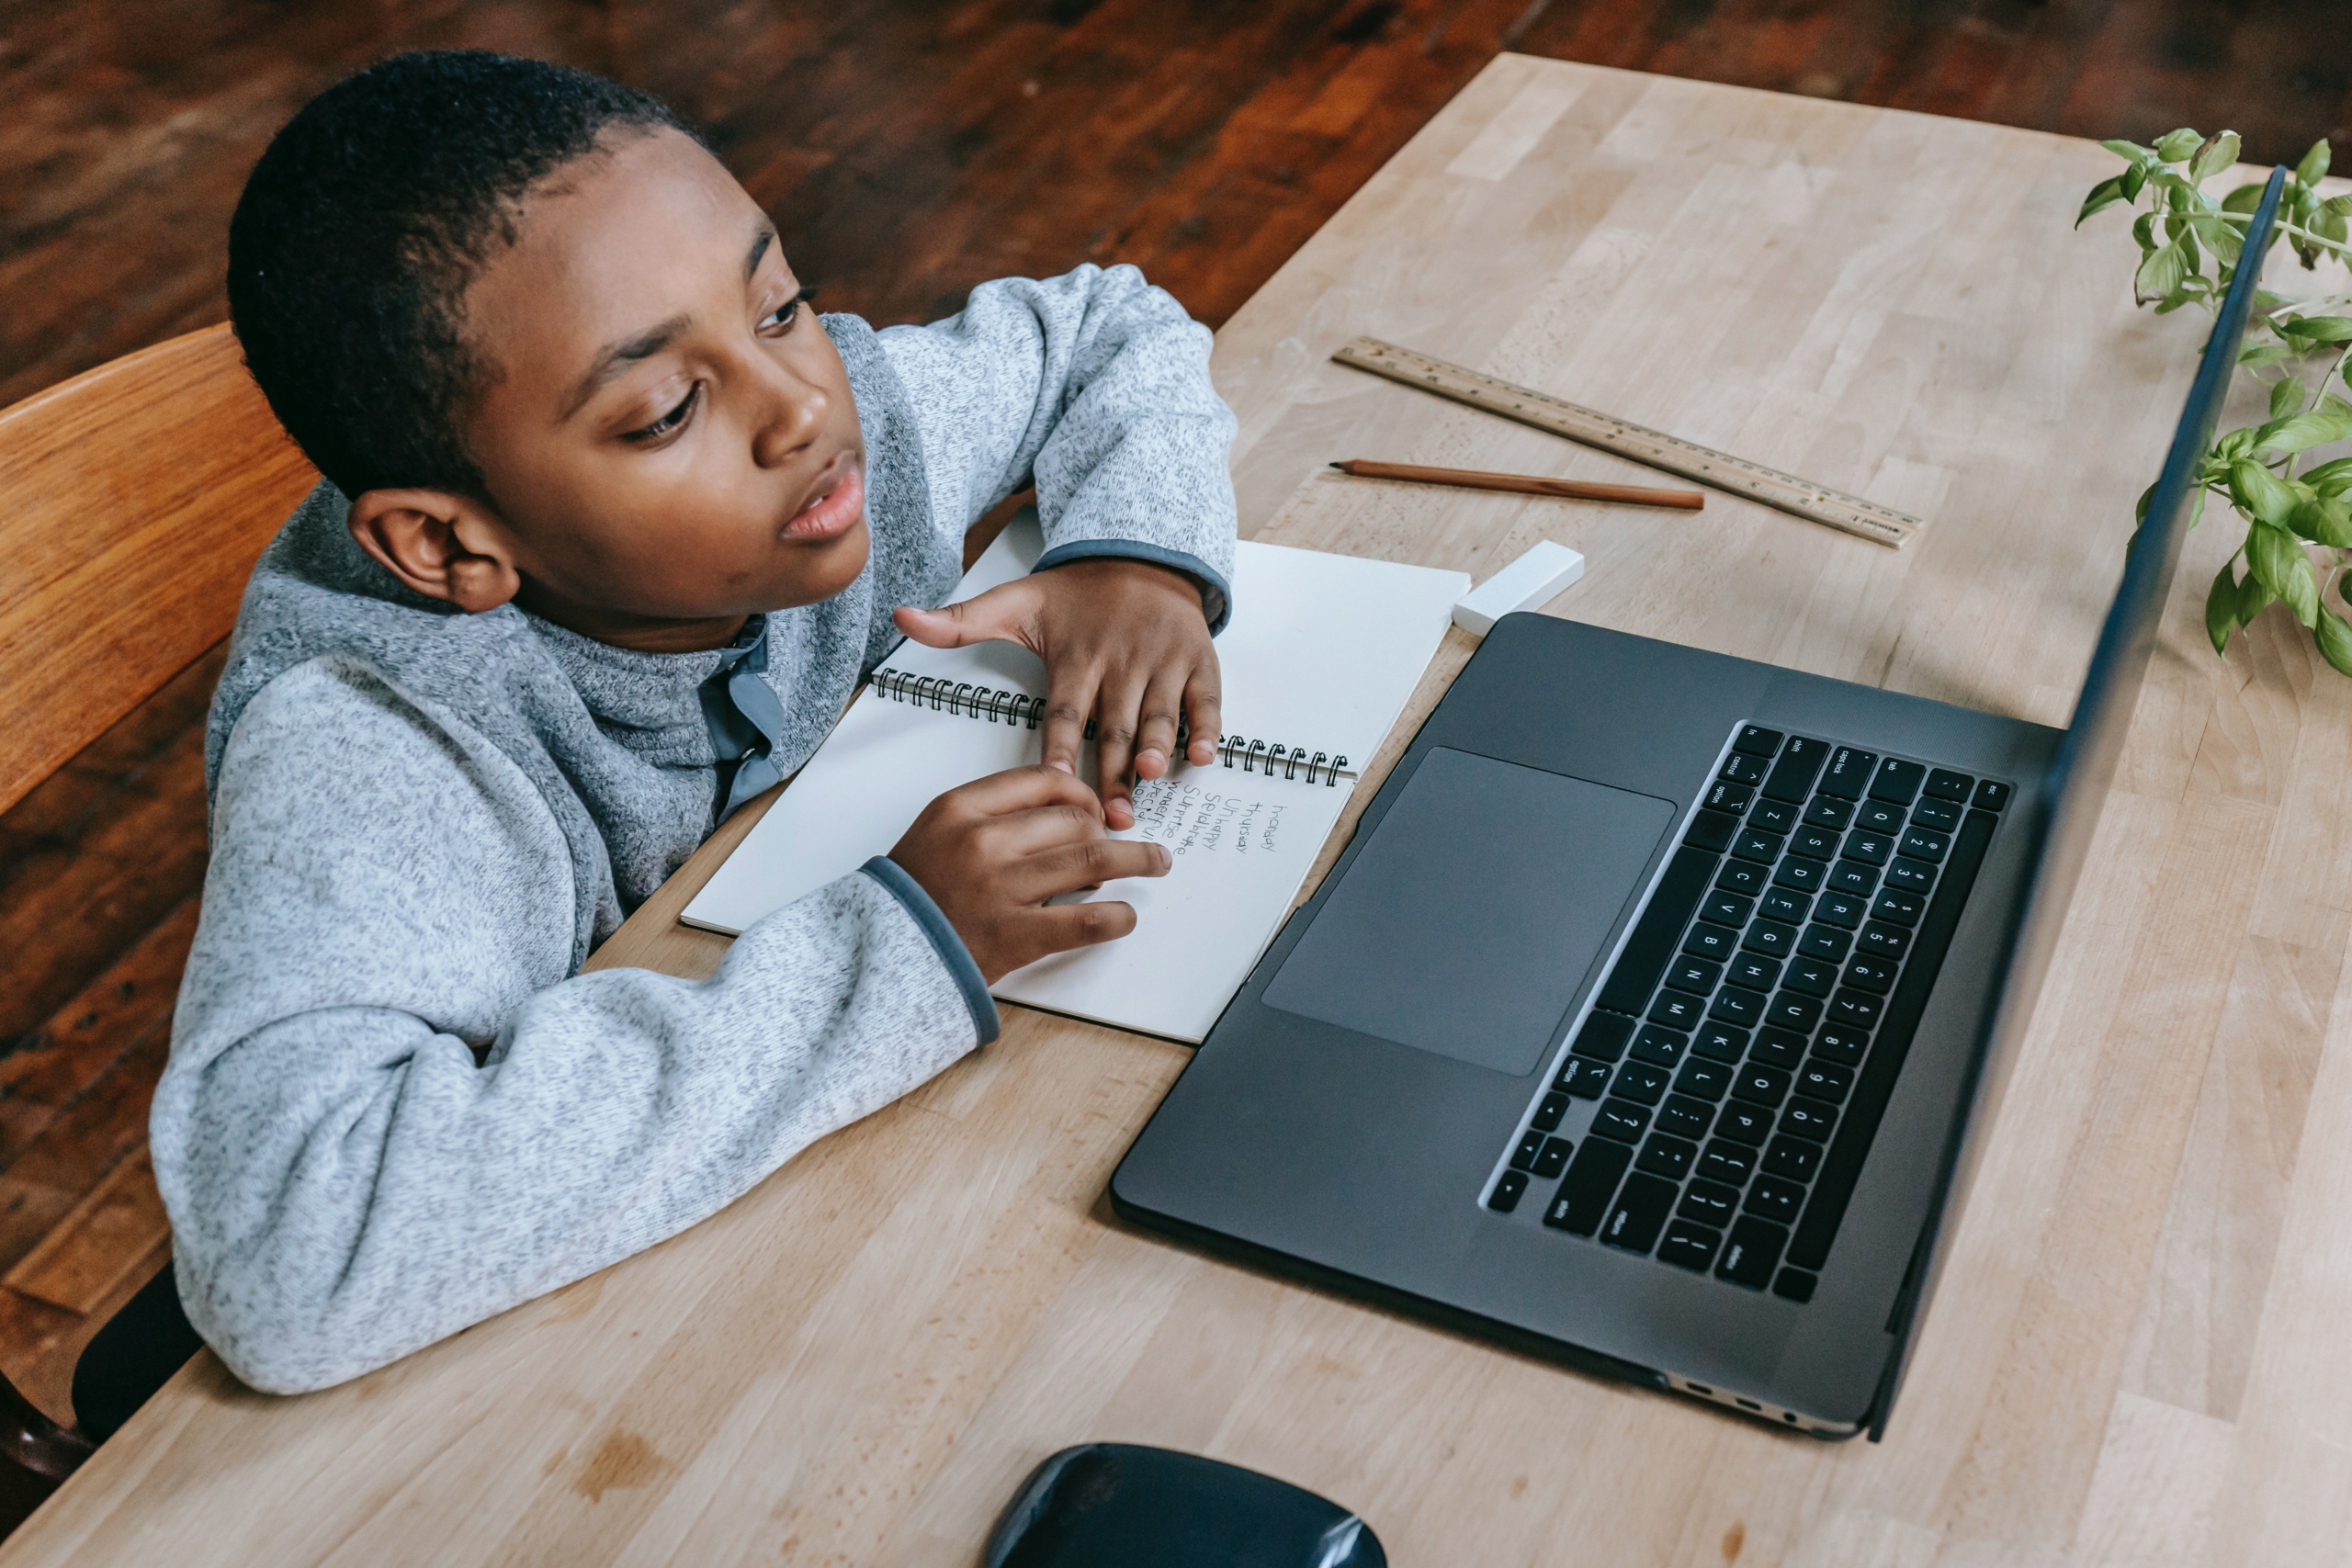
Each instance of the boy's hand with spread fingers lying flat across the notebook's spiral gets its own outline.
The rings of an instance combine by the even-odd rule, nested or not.
[[[1018,642],[1044,658],[1044,764],[1077,769],[1087,719],[1112,827],[1134,827],[1136,778],[1162,778],[1176,757],[1178,715],[1195,766],[1216,762],[1216,644],[1200,585],[1169,567],[1096,557],[948,604],[901,609],[898,630],[934,649]]]

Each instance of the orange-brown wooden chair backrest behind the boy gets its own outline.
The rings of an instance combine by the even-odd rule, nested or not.
[[[0,811],[228,635],[313,484],[226,324],[0,409]]]

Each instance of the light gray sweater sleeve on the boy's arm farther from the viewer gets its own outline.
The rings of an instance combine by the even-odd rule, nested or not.
[[[922,430],[931,510],[969,527],[1037,482],[1044,557],[1127,555],[1190,574],[1209,628],[1232,604],[1232,409],[1209,329],[1131,266],[1002,277],[882,348]]]

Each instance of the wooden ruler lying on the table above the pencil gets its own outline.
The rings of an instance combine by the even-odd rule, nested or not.
[[[1613,451],[1621,458],[1649,463],[1651,468],[1663,468],[1665,473],[1682,475],[1684,480],[1698,480],[1700,484],[1712,484],[1715,489],[1733,496],[1748,496],[1750,501],[1776,505],[1783,512],[1795,512],[1797,517],[1806,517],[1811,522],[1825,522],[1832,529],[1870,538],[1893,550],[1900,550],[1912,534],[1926,527],[1919,517],[1898,512],[1891,505],[1825,489],[1809,480],[1799,480],[1797,475],[1780,473],[1778,468],[1764,468],[1762,463],[1750,463],[1748,458],[1712,451],[1696,442],[1686,442],[1679,435],[1611,418],[1609,414],[1552,397],[1550,393],[1512,386],[1510,381],[1496,381],[1494,376],[1482,376],[1475,369],[1432,360],[1430,355],[1414,353],[1411,348],[1397,348],[1395,343],[1383,343],[1381,339],[1355,339],[1331,357],[1341,364],[1369,369],[1374,376],[1388,376],[1390,381],[1402,381],[1404,386],[1418,386],[1423,393],[1437,393],[1439,397],[1451,397],[1454,402],[1468,402],[1475,409],[1486,409],[1489,414],[1501,414],[1503,418],[1517,418],[1522,425],[1536,425],[1538,430],[1564,435],[1571,442],[1599,447],[1602,451]]]

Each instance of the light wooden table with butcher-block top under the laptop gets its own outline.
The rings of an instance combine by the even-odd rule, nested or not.
[[[2056,136],[1498,59],[1218,336],[1254,538],[2060,724],[2201,327],[2129,299]],[[1762,508],[1449,494],[1329,458],[1646,475],[1329,364],[1371,331],[1858,489]],[[207,1354],[0,1563],[971,1563],[1084,1439],[1362,1509],[1397,1563],[2317,1563],[2352,1540],[2352,682],[2183,564],[2122,778],[1884,1446],[1585,1380],[1120,1227],[1185,1063],[1004,1039],[720,1218],[299,1401]],[[1247,611],[1247,602],[1244,609]],[[1390,755],[1468,656],[1446,646]],[[1369,788],[1362,792],[1369,795]],[[741,827],[731,827],[734,837]],[[708,846],[600,954],[706,973]]]

